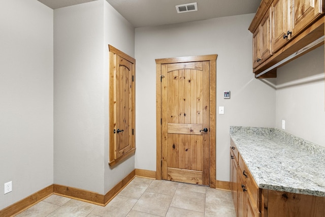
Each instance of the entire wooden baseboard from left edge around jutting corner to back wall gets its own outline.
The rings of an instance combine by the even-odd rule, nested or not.
[[[118,182],[113,189],[107,194],[101,195],[95,192],[90,192],[82,189],[72,188],[59,184],[51,184],[49,187],[42,189],[2,210],[0,210],[1,217],[9,217],[14,214],[18,214],[23,210],[31,207],[32,205],[40,202],[44,198],[55,194],[63,197],[69,197],[76,200],[93,203],[96,205],[107,205],[134,177],[136,176],[136,170],[133,170],[127,176],[125,176],[120,182]]]

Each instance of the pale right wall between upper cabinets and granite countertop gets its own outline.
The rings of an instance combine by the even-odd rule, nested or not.
[[[324,46],[277,70],[276,127],[325,147]]]

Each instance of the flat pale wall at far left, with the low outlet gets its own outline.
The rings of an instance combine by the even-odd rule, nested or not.
[[[2,0],[0,29],[1,210],[53,183],[53,10]]]

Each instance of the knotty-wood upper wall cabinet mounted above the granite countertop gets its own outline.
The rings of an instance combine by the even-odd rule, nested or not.
[[[253,33],[255,75],[267,71],[270,73],[261,78],[276,77],[276,68],[284,64],[276,66],[280,61],[305,49],[311,42],[324,35],[323,6],[324,0],[263,0],[261,2],[249,26],[250,32]],[[305,52],[307,51],[299,53],[302,55]]]

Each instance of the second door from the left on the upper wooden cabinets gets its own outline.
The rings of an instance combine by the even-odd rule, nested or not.
[[[272,34],[271,34],[271,13],[272,8],[269,8],[261,21],[261,58],[265,61],[272,55]]]

